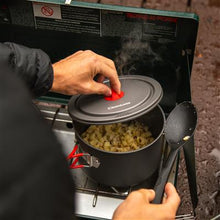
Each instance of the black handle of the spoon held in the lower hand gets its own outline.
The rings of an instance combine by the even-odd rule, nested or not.
[[[164,194],[164,187],[167,183],[168,177],[170,175],[170,171],[173,167],[174,161],[176,159],[178,149],[172,150],[169,153],[169,156],[167,158],[166,164],[164,168],[162,169],[160,175],[158,176],[157,182],[154,186],[154,191],[156,193],[154,200],[152,203],[154,204],[160,204],[163,199],[163,194]]]

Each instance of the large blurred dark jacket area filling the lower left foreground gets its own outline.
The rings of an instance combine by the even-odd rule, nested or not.
[[[0,68],[0,219],[75,219],[61,145],[8,65]]]

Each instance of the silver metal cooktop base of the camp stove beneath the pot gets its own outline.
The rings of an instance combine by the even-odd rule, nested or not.
[[[75,146],[75,132],[66,106],[41,102],[37,104],[62,144],[65,156],[68,156]],[[167,146],[164,144],[164,149],[166,148]],[[166,150],[164,150],[162,158],[164,158],[165,152]],[[161,165],[162,162],[163,160],[161,161]],[[169,177],[169,182],[173,184],[175,184],[177,173],[176,164],[174,164]],[[157,178],[157,174],[154,174],[151,178],[139,185],[115,188],[103,186],[91,180],[80,168],[71,169],[70,172],[76,185],[76,215],[89,219],[111,219],[114,210],[131,191],[140,188],[153,188]]]

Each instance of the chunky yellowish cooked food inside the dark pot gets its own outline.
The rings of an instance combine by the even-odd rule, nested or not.
[[[148,126],[139,121],[109,125],[90,125],[82,133],[85,142],[111,152],[128,152],[140,149],[154,141]]]

